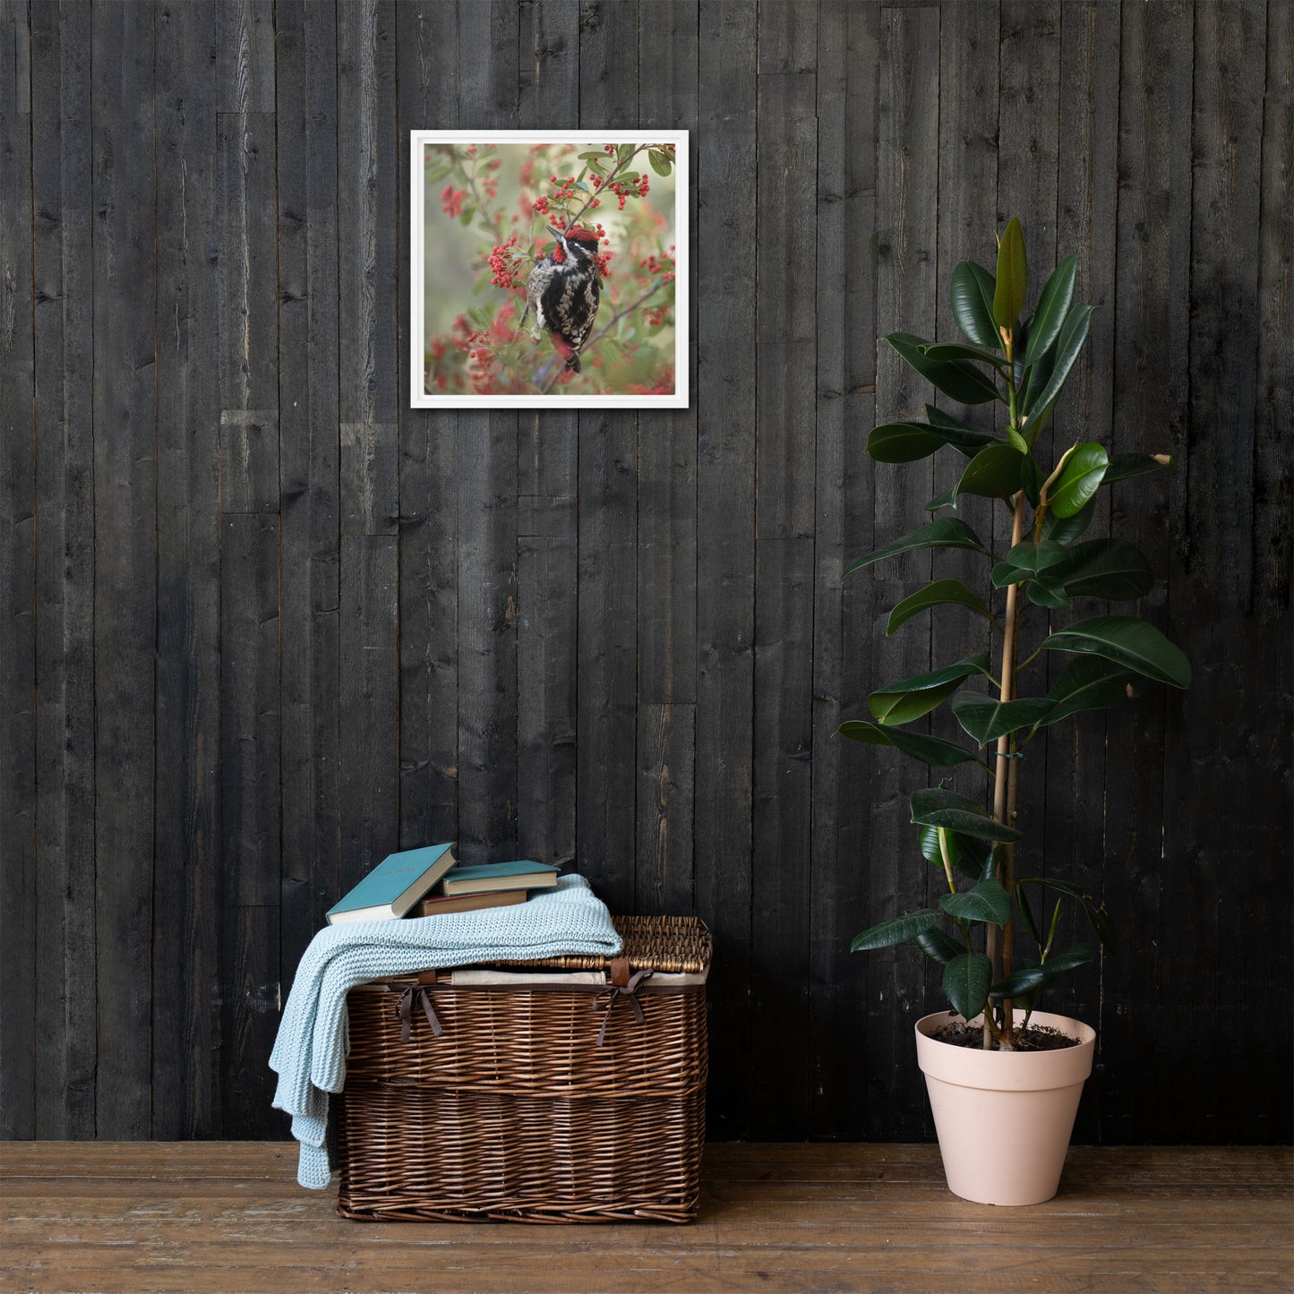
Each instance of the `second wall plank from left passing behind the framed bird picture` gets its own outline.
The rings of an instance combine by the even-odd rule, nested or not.
[[[458,23],[459,62],[476,67],[463,120],[515,126],[518,8],[470,5]],[[479,50],[489,50],[485,67]],[[516,437],[512,410],[458,417],[458,844],[474,863],[518,848]]]

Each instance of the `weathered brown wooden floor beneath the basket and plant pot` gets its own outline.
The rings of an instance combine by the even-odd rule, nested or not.
[[[1027,1210],[934,1146],[716,1145],[691,1227],[362,1224],[295,1146],[8,1143],[4,1291],[1289,1290],[1291,1154],[1078,1148]]]

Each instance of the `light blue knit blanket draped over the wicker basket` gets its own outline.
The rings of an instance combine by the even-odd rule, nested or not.
[[[620,949],[607,905],[573,875],[559,877],[555,890],[511,907],[320,930],[296,969],[269,1056],[278,1074],[274,1106],[292,1115],[292,1136],[302,1144],[296,1180],[314,1190],[329,1184],[327,1097],[345,1082],[345,995],[356,985],[432,967],[576,952],[613,956]]]

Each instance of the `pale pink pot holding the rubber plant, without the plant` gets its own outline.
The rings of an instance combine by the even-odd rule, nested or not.
[[[1016,1012],[1017,1024],[1025,1013]],[[1078,1047],[1049,1052],[985,1052],[936,1042],[950,1021],[941,1011],[916,1022],[916,1060],[934,1113],[949,1189],[985,1205],[1038,1205],[1060,1185],[1096,1031],[1068,1016],[1035,1011]],[[977,1025],[982,1016],[970,1021]]]

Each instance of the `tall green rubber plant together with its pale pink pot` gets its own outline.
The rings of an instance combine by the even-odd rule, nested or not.
[[[1135,613],[1154,582],[1145,555],[1118,536],[1087,537],[1101,488],[1172,459],[1112,457],[1097,441],[1049,446],[1044,436],[1092,314],[1091,305],[1074,300],[1075,267],[1077,258],[1066,256],[1026,314],[1027,260],[1012,220],[998,241],[995,272],[964,261],[952,273],[952,317],[964,342],[885,338],[950,400],[1000,404],[1005,426],[992,431],[927,405],[925,421],[876,427],[867,449],[879,462],[945,452],[964,465],[956,483],[927,505],[934,520],[845,571],[848,577],[923,549],[959,550],[982,562],[978,589],[937,578],[894,607],[886,633],[927,611],[956,607],[982,617],[992,650],[885,683],[870,695],[872,717],[850,719],[840,731],[894,747],[933,770],[927,779],[933,784],[915,789],[910,807],[914,862],[933,866],[943,890],[938,906],[886,916],[863,930],[853,950],[915,941],[942,965],[952,1009],[916,1022],[917,1060],[949,1187],[986,1203],[1036,1203],[1056,1193],[1095,1033],[1038,1004],[1057,977],[1091,961],[1099,945],[1115,943],[1096,897],[1040,866],[1017,866],[1017,846],[1022,858],[1031,857],[1016,827],[1021,757],[1052,725],[1083,710],[1118,705],[1148,685],[1190,683],[1181,651]],[[968,496],[1007,510],[1009,546],[995,551],[991,536],[982,538],[958,515]],[[1082,613],[1092,602],[1096,613]],[[1101,603],[1119,604],[1121,613]],[[1049,624],[1053,611],[1070,607],[1078,619]],[[1066,664],[1048,687],[1044,663],[1055,653]],[[945,704],[960,740],[911,727]],[[943,784],[959,765],[978,765],[987,778],[982,795]],[[1086,916],[1091,938],[1060,946],[1069,906]]]

